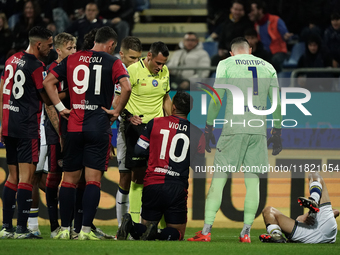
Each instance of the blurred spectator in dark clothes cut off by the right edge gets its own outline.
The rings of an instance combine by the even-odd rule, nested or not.
[[[340,14],[331,15],[331,26],[325,31],[325,45],[333,56],[333,67],[340,64]]]

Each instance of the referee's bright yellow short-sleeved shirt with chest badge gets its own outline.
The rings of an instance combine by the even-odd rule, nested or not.
[[[143,115],[143,123],[163,116],[163,98],[169,93],[169,70],[164,65],[158,74],[151,74],[143,59],[130,65],[131,95],[126,109],[133,115]]]

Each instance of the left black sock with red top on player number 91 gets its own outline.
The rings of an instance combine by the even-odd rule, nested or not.
[[[59,190],[59,200],[61,226],[70,227],[74,203],[76,200],[76,185],[73,183],[62,182]]]

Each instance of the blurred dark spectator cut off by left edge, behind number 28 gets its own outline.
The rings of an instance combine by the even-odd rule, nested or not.
[[[7,53],[13,43],[12,32],[8,28],[5,13],[0,13],[0,65],[4,65],[7,59]]]

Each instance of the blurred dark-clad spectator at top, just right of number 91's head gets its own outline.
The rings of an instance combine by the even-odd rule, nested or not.
[[[107,19],[107,25],[116,31],[118,43],[115,53],[119,52],[121,41],[131,34],[134,20],[134,2],[133,0],[97,0],[100,9],[100,15]]]

